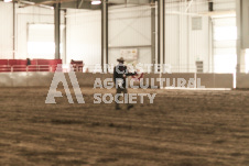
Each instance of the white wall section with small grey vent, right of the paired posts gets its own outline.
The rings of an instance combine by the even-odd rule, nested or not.
[[[207,3],[167,3],[165,12],[165,63],[173,73],[195,71],[195,62],[204,62],[204,71],[209,71],[209,23],[202,18],[202,29],[192,30],[192,19],[207,11]],[[196,15],[194,14],[196,13]]]

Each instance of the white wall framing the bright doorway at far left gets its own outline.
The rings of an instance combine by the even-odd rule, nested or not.
[[[13,51],[12,3],[4,3],[0,1],[0,58],[25,59],[28,57],[29,24],[53,24],[54,10],[39,7],[18,8],[18,5],[15,4],[15,51]],[[61,23],[64,24],[63,12],[61,15]],[[15,52],[14,57],[13,52]]]

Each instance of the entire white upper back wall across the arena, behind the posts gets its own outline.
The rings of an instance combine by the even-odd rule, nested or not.
[[[191,73],[195,71],[195,62],[203,60],[204,73],[213,73],[212,22],[208,16],[203,15],[207,12],[207,3],[194,1],[188,9],[188,14],[185,12],[186,7],[186,3],[165,4],[164,63],[172,65],[173,73]],[[0,25],[0,58],[13,58],[12,3],[0,2],[0,21],[3,22]],[[214,0],[215,11],[234,9],[235,0]],[[156,5],[155,10],[158,10]],[[24,9],[15,7],[15,12],[14,58],[26,58],[28,24],[52,24],[54,11],[39,7]],[[202,30],[193,31],[192,18],[199,16],[196,13],[202,16]],[[62,12],[62,24],[64,23],[63,14]],[[116,64],[116,58],[120,56],[122,48],[138,48],[138,63],[151,63],[151,7],[116,5],[109,8],[108,14],[109,64]],[[158,26],[158,23],[155,23],[155,26]],[[69,63],[71,59],[82,59],[90,69],[95,64],[100,64],[100,11],[68,9],[66,13],[66,55],[62,55],[63,62]],[[155,45],[156,42],[158,40],[155,40]],[[155,52],[155,57],[158,57],[156,54]]]

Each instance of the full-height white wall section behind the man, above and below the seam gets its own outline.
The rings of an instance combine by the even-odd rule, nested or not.
[[[151,63],[151,8],[109,8],[109,64],[116,64],[120,49],[138,48],[138,63]],[[147,47],[139,47],[147,46]],[[115,48],[113,48],[115,47]]]

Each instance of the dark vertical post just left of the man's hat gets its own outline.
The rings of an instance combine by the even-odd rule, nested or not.
[[[101,68],[107,71],[108,67],[108,3],[104,0],[101,3]],[[107,67],[106,69],[104,67]]]

